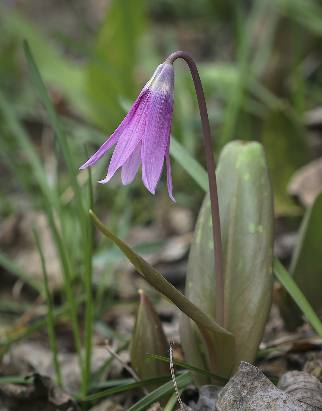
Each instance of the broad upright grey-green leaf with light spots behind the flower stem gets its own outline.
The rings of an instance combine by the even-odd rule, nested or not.
[[[218,201],[224,259],[224,328],[235,335],[235,350],[182,319],[183,351],[188,363],[229,377],[241,361],[253,363],[271,307],[273,289],[273,196],[264,148],[257,142],[232,141],[217,164]],[[185,296],[212,319],[215,272],[209,195],[199,212],[188,261]],[[191,335],[192,338],[186,337]],[[196,337],[197,335],[197,337]],[[201,350],[208,352],[203,353]],[[231,363],[218,358],[231,356]],[[222,368],[224,367],[224,369]],[[198,385],[204,383],[196,379]]]

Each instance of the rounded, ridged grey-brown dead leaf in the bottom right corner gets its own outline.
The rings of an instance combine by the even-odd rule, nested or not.
[[[322,383],[315,376],[307,372],[289,371],[278,381],[277,386],[309,405],[308,409],[322,410]]]

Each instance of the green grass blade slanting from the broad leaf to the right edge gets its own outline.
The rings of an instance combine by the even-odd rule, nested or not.
[[[276,275],[278,281],[285,287],[293,300],[297,303],[308,321],[310,321],[317,334],[322,338],[322,323],[319,317],[316,315],[310,303],[299,289],[299,286],[297,286],[294,279],[292,279],[290,274],[286,271],[285,267],[276,256],[274,257],[274,274]]]

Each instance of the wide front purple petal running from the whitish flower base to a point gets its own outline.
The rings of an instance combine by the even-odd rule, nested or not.
[[[155,194],[164,164],[164,154],[169,144],[174,102],[174,68],[164,65],[162,72],[151,84],[146,128],[142,139],[142,180]]]

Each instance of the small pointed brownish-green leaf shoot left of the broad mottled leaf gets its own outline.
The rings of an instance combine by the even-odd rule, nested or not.
[[[166,356],[169,344],[153,305],[143,290],[139,290],[139,294],[140,302],[132,332],[131,367],[140,379],[148,379],[167,374],[169,366],[148,357],[146,352],[150,351],[160,356]],[[151,392],[155,388],[158,386],[150,386],[149,391]]]

